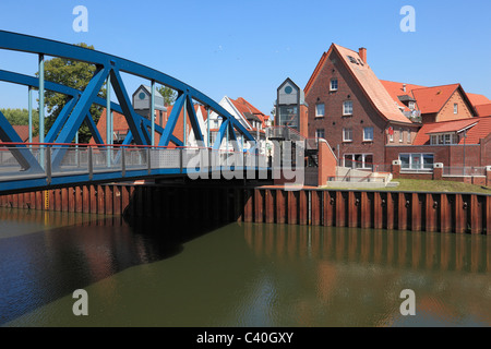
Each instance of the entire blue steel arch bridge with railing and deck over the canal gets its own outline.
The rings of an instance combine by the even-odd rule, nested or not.
[[[39,142],[24,143],[13,125],[0,112],[0,193],[32,191],[55,186],[77,185],[87,182],[118,182],[140,178],[165,176],[202,177],[224,169],[266,169],[265,157],[260,155],[254,137],[216,101],[185,83],[143,64],[97,50],[69,45],[46,38],[0,31],[0,49],[38,56],[38,74],[29,76],[1,70],[0,81],[26,87],[29,100],[32,131],[32,94],[38,91],[39,106],[45,105],[45,92],[68,96],[58,118],[49,130],[44,129],[45,108],[39,108]],[[45,81],[45,57],[59,57],[87,62],[96,67],[84,91]],[[151,116],[155,108],[156,84],[172,88],[177,98],[164,127],[135,112],[121,73],[142,77],[152,86]],[[106,86],[107,98],[99,97]],[[112,87],[112,88],[111,88]],[[110,93],[116,94],[111,100]],[[200,127],[193,105],[201,104],[216,112],[223,122],[213,144],[205,144],[205,132]],[[129,132],[122,144],[112,144],[111,118],[107,118],[108,132],[104,144],[94,119],[92,105],[107,108],[124,116]],[[0,108],[1,108],[0,103]],[[173,135],[179,118],[191,125],[199,147],[189,147]],[[83,123],[88,125],[95,144],[77,144],[77,132]],[[184,131],[185,132],[185,131]],[[158,144],[155,135],[159,134]],[[237,142],[240,137],[241,142]],[[184,137],[185,140],[185,137]],[[207,139],[209,140],[209,139]],[[220,145],[225,142],[227,151]],[[250,142],[244,151],[240,144]],[[230,145],[230,148],[229,148]]]

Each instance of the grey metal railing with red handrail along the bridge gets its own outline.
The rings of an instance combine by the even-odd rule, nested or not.
[[[221,168],[258,169],[267,167],[261,154],[213,149],[208,147],[160,147],[93,144],[2,144],[0,146],[0,182],[32,178],[52,178],[117,172],[113,180],[128,171],[172,169],[176,173],[206,172]],[[32,156],[39,167],[25,168],[16,153]],[[158,174],[158,173],[157,173]]]

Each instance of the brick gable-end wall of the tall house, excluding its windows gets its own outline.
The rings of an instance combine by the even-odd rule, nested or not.
[[[335,63],[333,63],[335,59]],[[338,89],[330,92],[331,79],[338,80]],[[352,116],[343,116],[343,104],[352,100]],[[309,137],[314,137],[318,129],[324,129],[325,139],[333,152],[343,158],[345,154],[372,154],[373,161],[384,161],[385,121],[369,103],[357,81],[333,51],[322,67],[316,80],[306,95],[309,105]],[[319,103],[324,104],[324,117],[316,118]],[[363,142],[363,128],[373,127],[373,141]],[[343,129],[352,129],[352,142],[343,142]]]

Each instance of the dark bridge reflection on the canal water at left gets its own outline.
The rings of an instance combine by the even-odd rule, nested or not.
[[[182,250],[187,231],[121,217],[0,209],[0,325],[129,267]],[[166,228],[164,228],[166,227]]]

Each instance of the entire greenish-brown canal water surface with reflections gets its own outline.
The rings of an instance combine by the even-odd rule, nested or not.
[[[486,236],[0,209],[0,326],[491,325]]]

